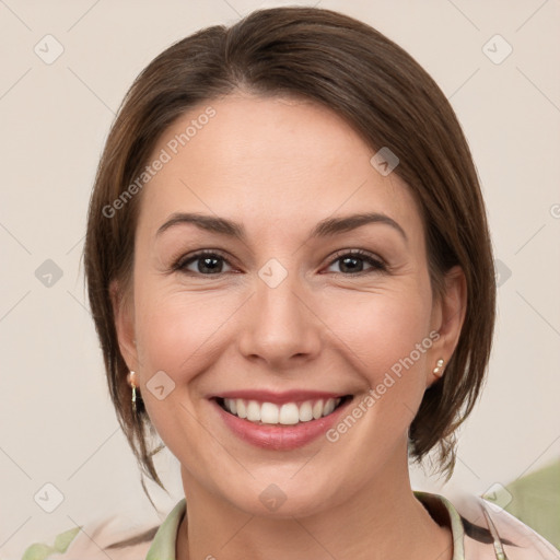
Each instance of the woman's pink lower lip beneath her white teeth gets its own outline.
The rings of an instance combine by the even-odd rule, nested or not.
[[[215,400],[211,402],[218,409],[225,425],[245,442],[271,451],[287,451],[302,447],[325,434],[339,420],[351,399],[328,416],[292,425],[256,424],[226,412]]]

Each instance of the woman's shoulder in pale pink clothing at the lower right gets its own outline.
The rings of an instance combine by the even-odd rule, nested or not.
[[[465,529],[466,560],[560,560],[560,551],[499,505],[476,495],[454,500]]]

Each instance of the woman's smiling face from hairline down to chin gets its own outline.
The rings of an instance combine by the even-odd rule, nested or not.
[[[117,326],[187,500],[302,515],[407,475],[452,349],[419,210],[373,154],[326,108],[249,95],[200,105],[155,147]]]

